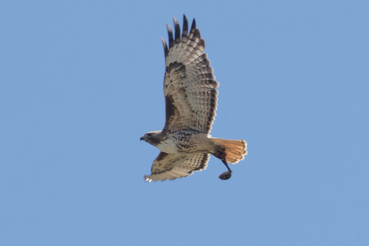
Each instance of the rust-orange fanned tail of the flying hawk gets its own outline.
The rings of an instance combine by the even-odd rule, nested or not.
[[[245,140],[228,140],[221,138],[210,138],[215,146],[225,150],[225,161],[235,164],[243,160],[247,155],[247,143]]]

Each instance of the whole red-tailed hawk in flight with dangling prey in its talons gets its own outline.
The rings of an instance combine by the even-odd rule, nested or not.
[[[183,15],[183,31],[173,18],[175,36],[167,24],[169,49],[162,38],[165,53],[165,125],[162,131],[148,132],[140,140],[161,152],[154,160],[145,181],[186,177],[206,169],[210,154],[220,159],[231,177],[228,163],[237,163],[247,154],[244,140],[212,138],[209,133],[217,110],[217,87],[210,60],[204,53],[205,42],[193,19],[190,33]]]

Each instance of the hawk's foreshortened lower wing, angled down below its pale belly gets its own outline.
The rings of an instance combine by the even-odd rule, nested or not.
[[[168,154],[160,152],[151,167],[151,175],[145,175],[145,181],[176,179],[187,177],[194,171],[206,169],[209,154]]]

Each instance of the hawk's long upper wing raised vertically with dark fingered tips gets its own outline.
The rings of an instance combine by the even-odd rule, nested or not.
[[[183,15],[183,32],[180,35],[178,21],[173,18],[175,37],[170,26],[169,49],[162,39],[165,53],[165,130],[193,129],[208,134],[217,110],[216,88],[213,68],[193,19],[190,33]]]

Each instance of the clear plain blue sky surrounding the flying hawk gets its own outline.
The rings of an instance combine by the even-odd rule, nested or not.
[[[196,18],[232,178],[145,183]],[[368,1],[2,1],[0,245],[369,245]]]

